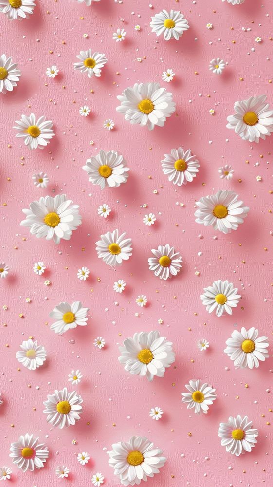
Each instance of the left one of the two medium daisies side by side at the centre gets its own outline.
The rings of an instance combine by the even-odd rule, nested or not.
[[[98,258],[102,259],[108,265],[115,267],[121,265],[122,261],[127,261],[132,255],[132,239],[127,239],[126,232],[119,235],[118,230],[107,232],[101,235],[101,240],[96,242],[96,251]]]

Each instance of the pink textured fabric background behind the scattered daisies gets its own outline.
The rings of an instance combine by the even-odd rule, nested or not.
[[[148,480],[151,487],[272,485],[272,425],[266,422],[273,423],[269,412],[273,400],[266,389],[271,388],[273,377],[273,194],[269,193],[273,189],[273,137],[252,146],[225,127],[226,116],[233,113],[237,100],[267,94],[273,106],[273,84],[269,83],[273,78],[272,2],[246,0],[239,6],[220,0],[151,2],[152,9],[149,0],[124,0],[123,4],[102,0],[91,7],[69,0],[43,0],[37,2],[29,20],[10,22],[1,15],[1,53],[13,56],[22,71],[13,93],[0,96],[0,261],[11,268],[8,278],[0,282],[0,392],[4,400],[0,406],[0,466],[12,468],[11,485],[91,485],[92,474],[102,472],[106,486],[118,486],[106,450],[132,435],[148,436],[167,457],[160,475]],[[180,9],[190,23],[190,30],[179,42],[165,42],[151,33],[150,16],[163,8]],[[213,24],[212,30],[206,28],[207,22]],[[136,24],[141,31],[134,30]],[[112,40],[118,27],[127,31],[122,43]],[[242,27],[251,31],[244,32]],[[255,42],[257,36],[262,37],[260,44]],[[76,55],[89,47],[105,53],[108,59],[101,78],[89,79],[73,70]],[[210,60],[218,56],[229,63],[221,76],[208,69]],[[140,63],[137,57],[145,58]],[[60,70],[53,80],[45,76],[52,64]],[[176,76],[165,84],[161,75],[168,68]],[[176,115],[164,128],[151,132],[131,126],[115,110],[116,95],[135,82],[157,80],[173,93]],[[87,118],[78,112],[85,104],[91,108]],[[209,113],[211,108],[214,116]],[[54,122],[55,138],[44,150],[29,151],[15,138],[15,120],[31,112]],[[115,121],[111,132],[102,127],[106,118]],[[196,154],[200,172],[192,184],[175,187],[164,176],[161,159],[180,145]],[[82,166],[100,149],[123,154],[131,169],[125,185],[102,192],[88,182]],[[219,178],[218,168],[224,164],[235,170],[231,182]],[[33,185],[31,176],[39,171],[50,177],[47,189]],[[261,182],[256,181],[257,175]],[[237,191],[250,206],[245,223],[231,235],[195,223],[195,200],[218,189]],[[21,209],[42,195],[61,192],[80,205],[83,224],[69,242],[55,245],[37,240],[19,225]],[[107,219],[97,214],[103,203],[112,208]],[[144,203],[146,209],[141,207]],[[157,217],[150,228],[142,222],[149,212]],[[127,231],[133,240],[132,257],[116,270],[99,260],[95,251],[100,235],[115,228]],[[217,240],[213,238],[216,235]],[[149,271],[147,259],[150,249],[166,243],[181,252],[183,267],[176,278],[163,282]],[[38,260],[47,267],[41,277],[32,270]],[[86,282],[77,279],[77,270],[83,265],[91,271]],[[196,270],[200,276],[195,275]],[[49,287],[44,285],[46,279],[51,281]],[[122,295],[113,291],[118,279],[127,282]],[[209,315],[201,303],[203,287],[217,279],[233,282],[242,295],[231,317]],[[139,294],[147,296],[146,308],[136,305]],[[31,298],[29,304],[27,297]],[[48,315],[62,300],[80,300],[90,308],[90,319],[85,328],[59,337],[50,330]],[[162,325],[159,318],[164,320]],[[235,327],[242,326],[255,326],[261,335],[270,337],[270,358],[259,369],[236,371],[223,353],[226,339]],[[118,344],[134,332],[155,329],[173,341],[177,355],[163,379],[148,383],[123,370]],[[18,372],[15,354],[29,336],[45,346],[48,359],[35,372],[23,366]],[[104,350],[93,346],[98,336],[107,342]],[[205,353],[197,348],[200,338],[210,342]],[[78,386],[68,383],[72,369],[83,374]],[[181,403],[184,384],[192,378],[206,380],[216,388],[218,397],[207,416],[197,416]],[[69,390],[76,387],[82,395],[84,412],[76,426],[51,430],[42,403],[48,393],[65,386]],[[155,406],[164,410],[160,421],[149,418]],[[255,449],[239,458],[226,453],[217,433],[220,421],[237,414],[248,415],[259,430]],[[23,473],[12,464],[9,447],[27,432],[48,445],[50,457],[42,470]],[[77,440],[76,445],[72,439]],[[91,456],[84,467],[76,459],[82,451]],[[55,475],[55,468],[62,464],[70,469],[67,480]]]

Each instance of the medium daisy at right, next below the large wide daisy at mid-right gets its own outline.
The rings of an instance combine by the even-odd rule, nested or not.
[[[236,308],[241,296],[237,294],[237,287],[233,287],[232,282],[214,281],[212,286],[204,287],[204,294],[200,298],[209,313],[216,311],[217,316],[222,316],[224,312],[232,315],[232,308]]]

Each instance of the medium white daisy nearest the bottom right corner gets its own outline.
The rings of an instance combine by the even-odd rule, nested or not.
[[[245,416],[238,415],[236,418],[230,416],[227,423],[220,423],[218,436],[221,438],[221,445],[232,455],[244,455],[251,451],[257,443],[258,430],[252,428],[252,421]]]

